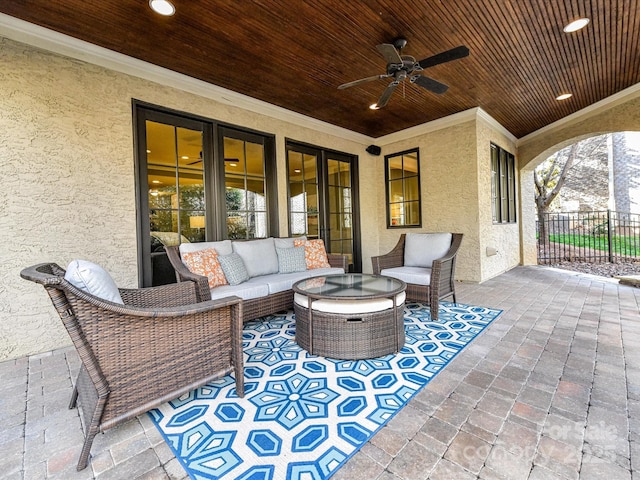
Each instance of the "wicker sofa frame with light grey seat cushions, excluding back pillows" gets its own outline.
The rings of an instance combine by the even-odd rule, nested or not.
[[[246,250],[247,247],[252,245],[257,246],[264,240],[266,239],[223,241],[229,242],[228,245],[230,246],[223,245],[223,242],[201,242],[199,244],[191,243],[187,245],[189,245],[190,248],[194,248],[195,245],[198,245],[198,248],[201,249],[210,247],[234,249],[234,245],[240,242]],[[289,239],[271,240],[277,241]],[[293,243],[291,243],[291,245],[293,245]],[[182,260],[181,251],[178,246],[166,247],[166,250],[169,261],[176,271],[177,281],[195,282],[200,300],[204,301],[211,298],[222,298],[228,295],[235,295],[242,298],[243,321],[245,322],[264,317],[265,315],[272,315],[277,312],[292,309],[293,290],[291,290],[291,287],[298,280],[319,275],[345,273],[348,268],[346,255],[327,254],[329,264],[331,265],[329,268],[318,268],[295,273],[270,273],[266,275],[256,275],[252,276],[249,281],[239,285],[223,285],[211,289],[209,288],[207,277],[189,271]]]

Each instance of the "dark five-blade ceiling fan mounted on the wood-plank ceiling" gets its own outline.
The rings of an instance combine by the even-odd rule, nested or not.
[[[430,92],[442,94],[449,88],[444,83],[440,83],[433,78],[420,75],[420,72],[425,68],[440,65],[441,63],[451,62],[452,60],[458,60],[469,55],[469,49],[464,45],[452,48],[442,53],[438,53],[431,57],[427,57],[419,62],[410,55],[402,55],[402,49],[407,45],[407,40],[404,38],[398,38],[394,40],[393,44],[383,43],[376,46],[378,52],[387,61],[387,73],[382,75],[374,75],[372,77],[361,78],[360,80],[354,80],[353,82],[343,83],[338,89],[343,90],[345,88],[354,87],[363,83],[372,82],[373,80],[379,80],[382,78],[393,78],[391,83],[382,92],[382,96],[378,100],[378,103],[372,108],[382,108],[388,102],[391,94],[396,89],[400,82],[407,78],[411,83],[420,85],[426,88]]]

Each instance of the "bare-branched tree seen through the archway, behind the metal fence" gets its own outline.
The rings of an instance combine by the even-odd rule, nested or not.
[[[545,213],[560,193],[571,167],[593,155],[606,144],[607,138],[608,135],[599,135],[574,143],[554,153],[533,171],[540,242],[547,240]]]

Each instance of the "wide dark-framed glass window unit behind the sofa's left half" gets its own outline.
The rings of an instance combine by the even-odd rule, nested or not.
[[[166,246],[277,234],[272,136],[142,102],[134,121],[140,286],[175,282]]]

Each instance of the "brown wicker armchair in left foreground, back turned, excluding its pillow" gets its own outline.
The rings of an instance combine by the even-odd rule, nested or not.
[[[119,289],[124,305],[85,293],[54,263],[20,276],[49,294],[80,356],[69,408],[82,411],[87,466],[98,432],[156,408],[211,380],[235,373],[244,396],[242,302],[198,302],[192,282]]]

